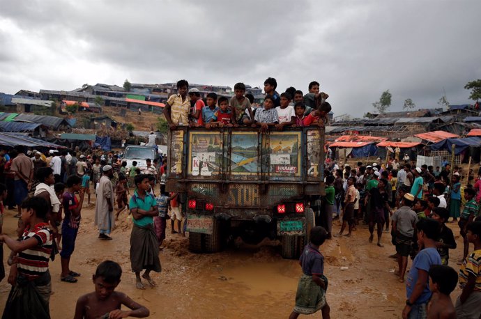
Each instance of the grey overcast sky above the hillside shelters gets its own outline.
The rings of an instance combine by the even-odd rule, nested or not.
[[[307,92],[362,116],[469,102],[481,79],[481,1],[0,0],[0,92],[191,83]]]

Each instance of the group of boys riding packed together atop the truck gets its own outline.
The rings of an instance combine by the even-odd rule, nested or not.
[[[296,88],[287,88],[284,93],[277,93],[277,81],[269,77],[264,81],[266,96],[262,107],[254,109],[254,96],[245,94],[245,84],[234,86],[234,96],[229,100],[216,93],[208,93],[205,101],[201,99],[197,88],[188,90],[185,80],[177,82],[177,94],[171,95],[164,109],[165,118],[171,130],[177,126],[191,127],[269,127],[282,130],[284,126],[304,127],[309,125],[326,125],[331,106],[326,102],[328,95],[319,93],[319,83],[309,84],[309,93],[303,96]]]

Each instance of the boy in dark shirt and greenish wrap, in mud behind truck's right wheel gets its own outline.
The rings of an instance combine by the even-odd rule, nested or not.
[[[323,319],[330,318],[330,308],[326,301],[328,279],[324,276],[324,256],[319,252],[319,247],[326,241],[327,236],[328,233],[321,226],[311,229],[310,243],[299,258],[303,276],[299,279],[296,306],[289,319],[298,318],[300,313],[310,315],[319,310]]]

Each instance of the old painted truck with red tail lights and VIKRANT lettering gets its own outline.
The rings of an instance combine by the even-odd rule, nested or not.
[[[185,207],[189,249],[215,253],[229,240],[280,240],[297,258],[324,195],[323,127],[177,127],[168,134],[168,192]]]

